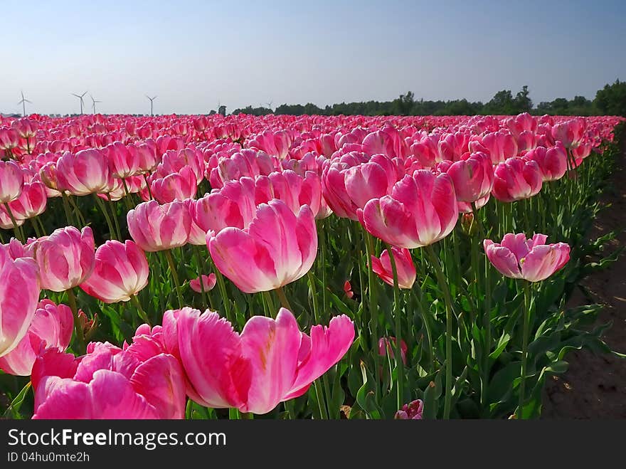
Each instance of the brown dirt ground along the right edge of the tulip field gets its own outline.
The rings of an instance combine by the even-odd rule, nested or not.
[[[624,147],[625,145],[622,145]],[[626,246],[626,152],[612,175],[612,189],[605,191],[605,206],[589,238],[618,231],[611,248]],[[610,268],[583,280],[593,302],[605,305],[598,323],[611,321],[605,342],[611,349],[626,353],[626,254]],[[568,307],[590,301],[576,289]],[[576,350],[566,356],[568,371],[548,379],[543,390],[541,418],[626,418],[626,359],[610,354]]]

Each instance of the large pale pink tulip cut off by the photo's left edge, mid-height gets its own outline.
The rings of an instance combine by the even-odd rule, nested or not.
[[[28,332],[39,299],[38,267],[33,259],[11,258],[0,247],[0,357],[15,349]]]

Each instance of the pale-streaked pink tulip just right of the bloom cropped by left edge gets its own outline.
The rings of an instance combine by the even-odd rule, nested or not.
[[[58,228],[26,246],[39,266],[41,288],[63,292],[83,283],[95,266],[95,245],[89,226]]]

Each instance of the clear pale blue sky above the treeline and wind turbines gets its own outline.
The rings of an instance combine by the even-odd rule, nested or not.
[[[626,80],[626,1],[0,0],[0,111],[227,112],[416,98],[538,103]],[[91,110],[89,95],[85,107]]]

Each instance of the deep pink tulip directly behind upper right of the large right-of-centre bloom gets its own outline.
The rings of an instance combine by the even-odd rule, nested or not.
[[[460,202],[475,202],[489,195],[494,185],[494,168],[484,153],[472,153],[469,157],[450,165],[447,174],[455,185]]]

